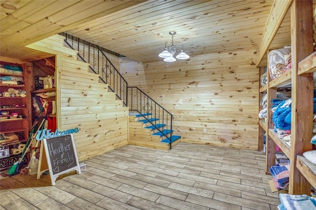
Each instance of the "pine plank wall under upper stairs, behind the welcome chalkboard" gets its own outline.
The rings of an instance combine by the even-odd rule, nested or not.
[[[74,134],[79,161],[128,143],[128,107],[123,107],[88,64],[67,54],[63,36],[54,35],[29,45],[56,54],[57,116],[60,131],[79,128]],[[50,49],[54,50],[51,51]]]

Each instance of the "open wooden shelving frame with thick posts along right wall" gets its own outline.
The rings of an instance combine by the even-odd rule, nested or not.
[[[292,49],[292,68],[273,80],[267,70],[267,85],[259,89],[261,98],[263,93],[267,93],[268,103],[266,122],[259,119],[259,142],[263,142],[264,132],[267,135],[266,173],[268,174],[269,168],[275,165],[277,145],[290,160],[288,193],[297,195],[310,194],[311,185],[316,188],[316,165],[303,156],[305,151],[313,149],[311,143],[315,89],[313,73],[316,71],[316,52],[313,52],[313,9],[311,8],[313,8],[312,1],[292,1],[289,9],[291,11],[291,43],[288,43],[291,44]],[[263,73],[264,70],[261,68],[259,79]],[[272,121],[272,99],[276,99],[277,91],[281,87],[291,87],[290,143],[277,136]]]

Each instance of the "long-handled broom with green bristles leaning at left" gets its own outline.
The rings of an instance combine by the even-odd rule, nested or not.
[[[16,174],[19,174],[19,166],[20,166],[20,163],[22,162],[22,160],[23,160],[23,158],[24,158],[24,156],[25,156],[26,151],[30,148],[31,142],[32,142],[33,139],[34,139],[34,138],[33,138],[32,141],[30,142],[30,140],[31,140],[31,138],[32,138],[32,135],[33,135],[33,133],[34,133],[34,131],[35,131],[36,125],[38,124],[38,119],[40,118],[40,114],[43,112],[43,109],[44,109],[44,106],[46,105],[46,103],[47,103],[47,102],[44,102],[43,106],[42,106],[41,109],[40,109],[39,115],[37,116],[37,118],[36,118],[35,121],[34,121],[34,125],[33,125],[33,127],[32,127],[31,134],[30,134],[30,136],[29,136],[29,138],[28,138],[28,140],[27,140],[27,142],[26,142],[26,145],[28,145],[28,146],[27,146],[27,147],[24,147],[23,152],[22,152],[22,154],[21,154],[21,157],[19,158],[18,161],[16,161],[16,162],[10,167],[10,169],[9,169],[9,171],[8,171],[8,173],[7,173],[7,175],[16,175]],[[44,122],[45,122],[45,117],[44,117],[44,119],[42,120],[42,122],[40,123],[40,126],[39,126],[38,130],[36,131],[36,133],[40,130],[40,128],[42,127],[42,125],[43,125]]]

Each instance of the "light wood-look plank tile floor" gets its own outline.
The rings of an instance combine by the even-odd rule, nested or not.
[[[257,151],[179,143],[169,151],[126,145],[60,177],[5,176],[0,210],[277,210]]]

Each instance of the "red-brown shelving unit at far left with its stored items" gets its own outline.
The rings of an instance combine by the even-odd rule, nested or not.
[[[19,159],[29,136],[26,66],[11,62],[0,57],[0,170]]]

